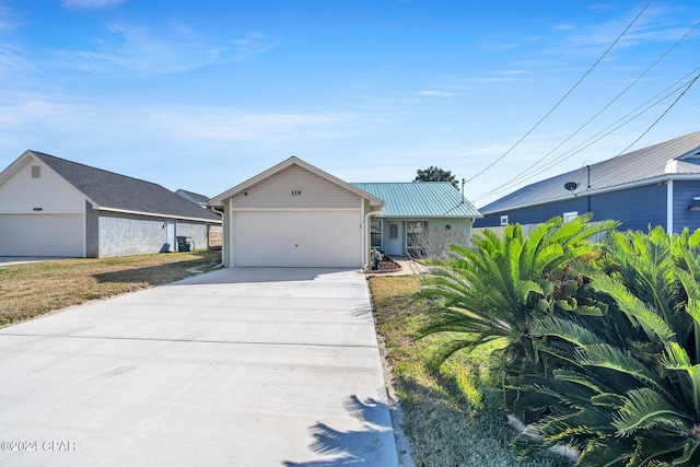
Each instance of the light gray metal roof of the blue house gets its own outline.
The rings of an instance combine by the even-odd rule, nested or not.
[[[569,182],[578,184],[573,194],[580,196],[681,178],[700,178],[700,131],[527,185],[479,210],[491,213],[568,199]]]

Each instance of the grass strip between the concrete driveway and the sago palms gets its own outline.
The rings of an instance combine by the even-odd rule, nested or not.
[[[430,305],[415,300],[417,276],[373,277],[370,290],[377,332],[385,340],[394,388],[404,410],[404,430],[418,466],[563,467],[556,455],[520,459],[510,447],[514,435],[498,404],[485,399],[494,385],[488,371],[489,349],[458,352],[435,363],[448,336],[413,338]]]

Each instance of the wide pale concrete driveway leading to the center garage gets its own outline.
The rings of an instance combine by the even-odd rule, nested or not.
[[[365,278],[224,269],[0,329],[0,465],[398,465]]]

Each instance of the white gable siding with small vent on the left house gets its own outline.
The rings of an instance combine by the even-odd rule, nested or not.
[[[32,165],[40,166],[40,178],[32,178]],[[40,208],[40,211],[35,211]],[[75,213],[83,214],[85,196],[34,157],[0,185],[0,213]]]

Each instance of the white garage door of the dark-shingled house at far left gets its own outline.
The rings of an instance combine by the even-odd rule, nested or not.
[[[0,214],[0,256],[83,256],[82,214]]]

